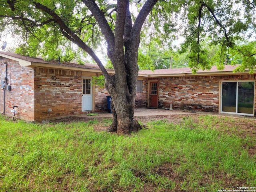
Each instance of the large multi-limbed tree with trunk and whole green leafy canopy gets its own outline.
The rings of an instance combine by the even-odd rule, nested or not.
[[[68,60],[74,54],[67,45],[73,42],[92,57],[112,97],[109,131],[120,134],[140,129],[134,118],[140,37],[169,46],[184,34],[182,49],[190,50],[190,67],[197,70],[210,68],[201,46],[207,35],[223,48],[220,63],[226,47],[236,48],[252,61],[244,68],[255,69],[255,52],[236,45],[255,35],[254,0],[0,0],[0,7],[0,32],[20,37],[23,54]],[[114,75],[96,54],[96,47],[104,45]]]

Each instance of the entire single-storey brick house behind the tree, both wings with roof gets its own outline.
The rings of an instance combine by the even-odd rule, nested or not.
[[[6,65],[7,64],[7,65]],[[139,72],[136,107],[158,107],[206,112],[255,114],[256,74],[190,68]],[[109,70],[109,73],[114,73]],[[96,64],[46,62],[11,52],[0,52],[0,113],[42,121],[108,110],[108,92],[91,84],[99,76]],[[5,86],[5,87],[4,87]]]

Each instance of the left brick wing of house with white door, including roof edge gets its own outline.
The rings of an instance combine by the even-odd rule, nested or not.
[[[1,113],[12,116],[11,110],[18,106],[18,118],[42,121],[107,110],[108,92],[91,85],[92,76],[100,75],[96,64],[45,62],[0,52],[0,65]],[[4,90],[5,77],[9,86]]]

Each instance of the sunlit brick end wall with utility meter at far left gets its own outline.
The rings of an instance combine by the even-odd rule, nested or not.
[[[11,110],[13,106],[18,106],[17,118],[24,120],[34,120],[34,70],[29,67],[21,67],[14,60],[1,60],[8,63],[7,82],[12,86],[12,90],[6,90],[6,110],[5,114],[13,116]],[[1,66],[0,80],[5,77],[5,65]],[[4,110],[4,90],[0,90],[0,112]]]

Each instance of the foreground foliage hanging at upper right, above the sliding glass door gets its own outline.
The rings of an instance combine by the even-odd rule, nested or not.
[[[253,2],[188,1],[183,8],[182,18],[188,21],[188,27],[184,30],[186,40],[182,44],[182,50],[190,51],[189,66],[193,72],[200,68],[207,70],[211,65],[217,65],[220,70],[223,69],[224,63],[230,62],[229,54],[232,51],[236,52],[239,60],[242,58],[246,60],[246,62],[240,62],[237,70],[243,71],[248,68],[250,73],[255,70],[253,54],[256,52],[251,49],[250,56],[247,54],[246,57],[246,54],[241,54],[242,48],[238,43],[246,42],[252,37],[251,30],[255,31],[256,14]],[[205,38],[206,35],[210,39]],[[206,56],[205,47],[202,46],[205,40],[210,40],[212,45],[219,47],[217,54],[212,56],[211,60]],[[238,58],[234,60],[238,61]],[[231,61],[231,64],[234,62]]]

